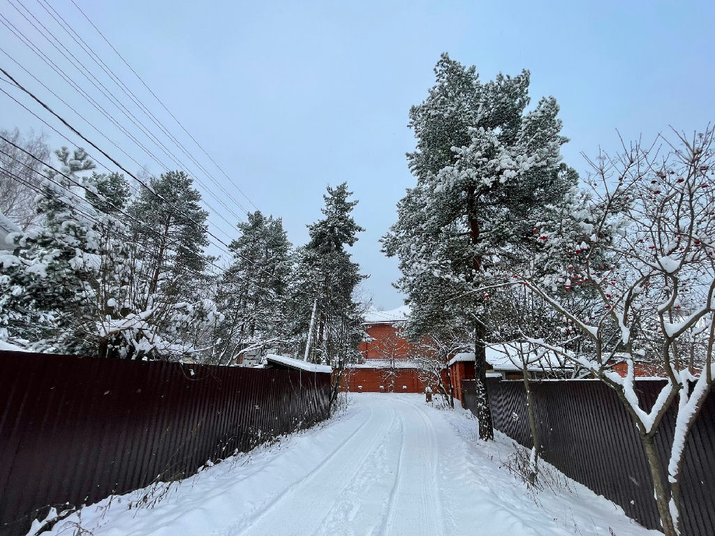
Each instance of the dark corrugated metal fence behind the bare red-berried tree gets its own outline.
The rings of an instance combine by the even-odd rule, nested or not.
[[[531,448],[526,393],[521,380],[488,379],[494,427]],[[663,382],[641,380],[641,407],[651,407]],[[474,409],[474,380],[463,380],[465,406]],[[651,475],[638,431],[612,389],[598,380],[532,382],[541,456],[568,477],[621,505],[626,515],[659,529]],[[669,458],[675,424],[666,415],[656,442]],[[686,445],[681,490],[683,533],[715,535],[715,393],[706,400]]]

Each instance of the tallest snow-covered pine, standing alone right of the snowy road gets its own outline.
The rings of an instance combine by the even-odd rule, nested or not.
[[[383,239],[400,259],[398,287],[423,329],[455,317],[473,326],[480,437],[493,438],[485,390],[488,293],[510,262],[511,244],[531,238],[539,207],[568,190],[559,174],[558,105],[528,104],[529,73],[482,84],[474,66],[443,54],[428,98],[410,109],[417,147],[408,154],[417,184],[398,204]],[[498,274],[501,279],[501,274]]]

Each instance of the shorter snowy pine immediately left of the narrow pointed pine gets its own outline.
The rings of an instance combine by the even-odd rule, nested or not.
[[[230,244],[233,261],[218,284],[217,304],[225,316],[217,329],[218,363],[233,363],[249,350],[280,351],[290,338],[286,313],[292,244],[283,222],[256,211],[237,227],[241,237]]]

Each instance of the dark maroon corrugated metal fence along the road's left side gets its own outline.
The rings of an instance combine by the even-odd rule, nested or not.
[[[0,535],[325,419],[330,374],[0,352]]]

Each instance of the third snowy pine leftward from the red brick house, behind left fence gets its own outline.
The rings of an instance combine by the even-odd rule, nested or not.
[[[117,326],[129,345],[122,355],[134,359],[179,359],[195,352],[204,324],[217,322],[209,295],[212,277],[204,253],[209,244],[208,213],[201,194],[184,172],[150,179],[129,206],[134,247],[132,299],[114,307],[131,311]]]

